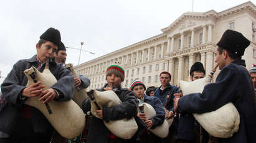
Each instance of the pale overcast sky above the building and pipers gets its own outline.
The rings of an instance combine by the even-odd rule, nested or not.
[[[194,0],[194,12],[220,12],[244,2]],[[36,54],[36,43],[49,27],[60,30],[66,47],[80,48],[84,42],[82,48],[95,53],[82,52],[83,63],[161,34],[161,29],[187,11],[192,11],[192,0],[1,1],[1,76],[6,77],[18,60]],[[77,65],[79,52],[67,49],[66,63]]]

